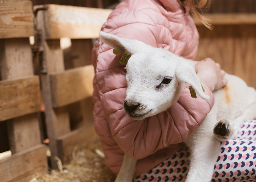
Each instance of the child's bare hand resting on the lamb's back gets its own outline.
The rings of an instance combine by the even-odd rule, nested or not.
[[[195,64],[197,76],[211,91],[221,88],[227,84],[223,79],[225,71],[220,69],[220,64],[215,63],[211,58],[198,61]]]

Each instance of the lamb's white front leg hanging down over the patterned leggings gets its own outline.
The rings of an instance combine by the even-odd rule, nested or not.
[[[193,142],[190,146],[191,159],[186,182],[211,181],[219,151],[220,142],[213,135]]]

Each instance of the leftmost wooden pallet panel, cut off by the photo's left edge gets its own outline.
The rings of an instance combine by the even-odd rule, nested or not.
[[[1,182],[25,182],[35,172],[48,172],[47,147],[41,144],[37,117],[39,76],[33,73],[29,43],[29,36],[34,35],[33,17],[29,0],[0,2],[0,122],[7,123],[12,153],[0,160]]]

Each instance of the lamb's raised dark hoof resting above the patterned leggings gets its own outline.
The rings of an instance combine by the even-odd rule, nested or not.
[[[220,119],[214,126],[214,136],[221,142],[226,141],[233,134],[230,120]]]

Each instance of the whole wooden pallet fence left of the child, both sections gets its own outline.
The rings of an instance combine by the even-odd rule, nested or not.
[[[33,8],[29,0],[0,2],[0,122],[8,128],[0,131],[7,130],[9,138],[9,146],[0,145],[0,153],[11,150],[11,157],[0,160],[1,182],[25,182],[35,172],[48,173],[48,146],[42,144],[39,122],[42,111],[53,169],[55,156],[65,164],[76,146],[97,138],[92,121],[94,69],[89,60],[92,38],[98,38],[110,12],[53,4]],[[33,48],[30,36],[35,36]],[[73,57],[65,62],[61,37],[72,39]]]

